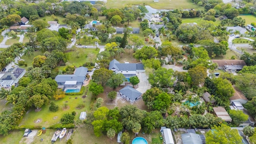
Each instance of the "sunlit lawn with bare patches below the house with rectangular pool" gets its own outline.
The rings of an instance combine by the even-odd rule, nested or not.
[[[89,84],[90,85],[90,84]],[[90,103],[92,98],[92,93],[88,91],[89,85],[86,86],[85,92],[82,95],[75,96],[65,96],[65,98],[51,101],[59,106],[58,112],[51,112],[49,110],[50,104],[47,106],[43,106],[42,110],[39,112],[35,112],[35,107],[32,107],[28,110],[26,115],[22,118],[20,122],[21,125],[38,125],[48,127],[53,124],[60,123],[60,118],[65,113],[71,113],[72,111],[76,112],[75,120],[79,119],[80,112],[88,112],[90,111]],[[88,92],[86,92],[88,91]],[[86,93],[86,94],[85,94]],[[82,98],[83,95],[87,95],[86,98]],[[63,105],[68,104],[65,108]],[[77,109],[78,104],[84,104],[85,107],[81,109]]]

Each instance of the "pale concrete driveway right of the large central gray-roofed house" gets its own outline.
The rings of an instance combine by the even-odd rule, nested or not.
[[[151,88],[151,85],[149,84],[148,77],[144,72],[139,72],[137,76],[140,80],[140,83],[138,84],[139,87],[136,90],[143,94],[146,92],[146,90]]]

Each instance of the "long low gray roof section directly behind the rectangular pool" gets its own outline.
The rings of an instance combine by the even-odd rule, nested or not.
[[[84,82],[84,76],[76,76],[74,74],[59,74],[55,77],[56,82],[76,81]]]

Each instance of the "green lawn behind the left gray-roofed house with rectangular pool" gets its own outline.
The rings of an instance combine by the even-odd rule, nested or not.
[[[77,68],[80,67],[80,66],[83,66],[83,64],[85,64],[86,62],[88,62],[88,58],[87,58],[87,55],[89,53],[93,53],[95,54],[98,54],[100,49],[98,48],[96,50],[96,48],[78,48],[80,49],[81,51],[79,52],[74,52],[74,51],[70,51],[70,52],[67,52],[67,54],[69,55],[69,60],[68,60],[68,63],[71,64],[71,65],[74,65],[76,66]],[[79,58],[76,58],[76,56],[80,55]]]

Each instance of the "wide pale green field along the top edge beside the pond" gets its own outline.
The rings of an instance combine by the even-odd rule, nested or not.
[[[144,4],[149,5],[156,9],[175,9],[175,8],[193,8],[193,9],[203,9],[203,7],[196,4],[192,4],[191,0],[159,0],[159,2],[154,2],[153,0],[108,0],[106,3],[107,8],[124,8],[127,5],[138,5]]]

